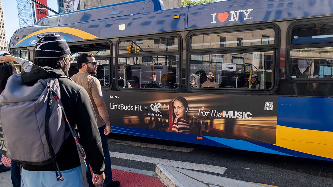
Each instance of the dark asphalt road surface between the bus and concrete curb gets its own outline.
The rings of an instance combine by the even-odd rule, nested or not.
[[[193,150],[185,149],[187,152],[175,151],[176,148],[172,147],[167,150],[165,146],[180,147],[180,150],[181,147],[193,148]],[[223,174],[221,174],[219,170],[216,170],[216,172],[199,172],[279,187],[327,187],[333,185],[333,162],[330,161],[257,153],[114,133],[109,135],[109,149],[117,155],[118,153],[127,153],[124,154],[125,156],[122,158],[119,156],[115,156],[117,158],[112,157],[113,165],[140,170],[155,171],[155,164],[152,162],[156,160],[155,158],[158,158],[162,159],[164,162],[170,163],[172,161],[182,161],[190,162],[193,166],[197,164],[219,166],[221,168],[227,168]],[[129,154],[131,154],[133,158],[132,156],[128,158]],[[154,158],[153,161],[150,157]]]

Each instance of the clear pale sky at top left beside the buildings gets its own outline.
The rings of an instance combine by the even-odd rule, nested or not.
[[[2,6],[4,11],[5,34],[8,43],[14,32],[20,28],[16,0],[2,0]],[[47,6],[58,12],[58,0],[47,0]],[[49,11],[49,15],[54,15],[54,13]]]

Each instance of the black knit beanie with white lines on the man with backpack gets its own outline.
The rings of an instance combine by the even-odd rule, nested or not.
[[[35,45],[36,58],[60,58],[71,54],[66,40],[57,33],[37,36]]]

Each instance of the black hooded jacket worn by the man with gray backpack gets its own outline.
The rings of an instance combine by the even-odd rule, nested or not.
[[[26,85],[34,85],[40,79],[57,77],[60,86],[60,99],[64,105],[65,113],[72,126],[77,125],[79,142],[89,157],[89,164],[95,174],[104,172],[104,155],[101,136],[97,127],[96,115],[93,105],[86,90],[68,78],[59,78],[64,75],[60,70],[50,67],[33,65],[31,72],[23,72],[22,80]],[[66,124],[66,131],[69,127]],[[73,169],[80,166],[79,154],[72,135],[63,143],[62,149],[57,156],[57,162],[61,171]],[[53,163],[36,166],[30,164],[22,165],[29,171],[55,171]]]

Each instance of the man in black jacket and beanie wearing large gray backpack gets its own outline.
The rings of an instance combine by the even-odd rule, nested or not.
[[[35,65],[11,76],[0,95],[0,150],[22,163],[24,187],[87,187],[85,151],[94,184],[104,182],[94,108],[85,89],[65,76],[74,60],[70,53],[59,34],[39,35]]]

